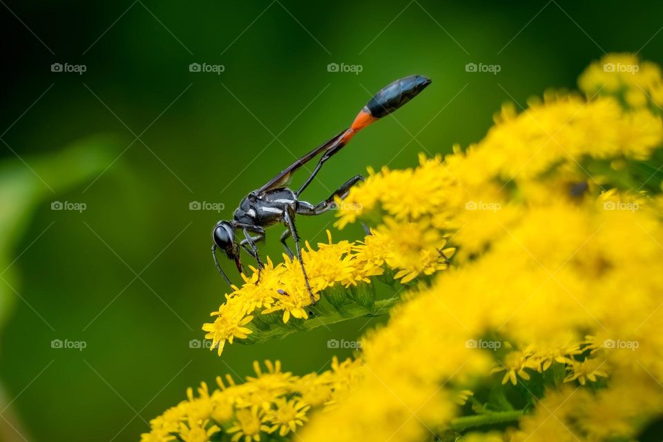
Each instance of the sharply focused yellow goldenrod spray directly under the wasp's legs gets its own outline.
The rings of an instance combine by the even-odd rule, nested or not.
[[[454,249],[445,248],[445,238],[430,232],[421,223],[390,222],[373,229],[372,235],[362,242],[333,243],[329,231],[329,242],[318,244],[318,249],[306,242],[302,260],[316,300],[332,290],[338,296],[347,293],[351,286],[370,285],[372,277],[383,275],[385,269],[396,271],[394,278],[403,284],[419,275],[446,269],[447,259],[453,255]],[[284,262],[277,265],[268,258],[259,281],[258,271],[253,267],[251,278],[242,274],[244,285],[233,287],[224,304],[212,312],[214,322],[203,325],[202,329],[207,332],[205,338],[212,340],[211,348],[217,348],[218,354],[226,342],[232,344],[235,339],[246,339],[253,332],[249,323],[256,316],[262,325],[265,315],[269,314],[279,314],[286,324],[290,318],[309,317],[307,307],[311,305],[311,297],[299,262],[286,255],[283,258]],[[338,287],[345,289],[339,291]],[[343,299],[332,300],[332,303],[340,308],[349,300],[343,295]]]

